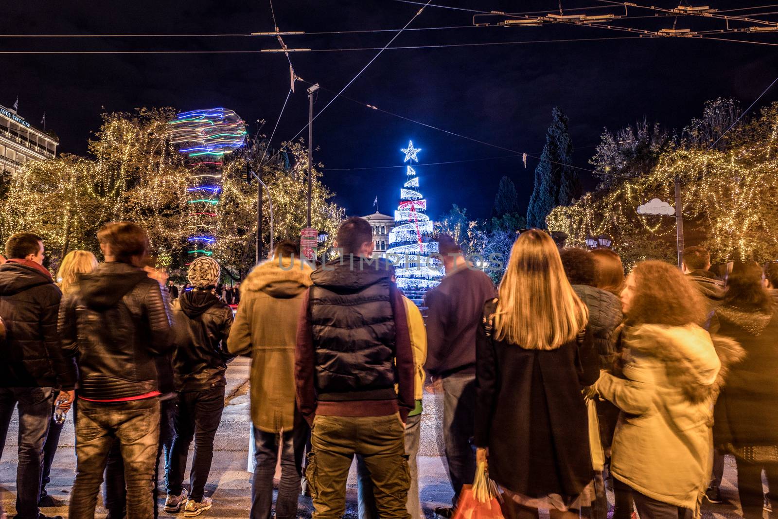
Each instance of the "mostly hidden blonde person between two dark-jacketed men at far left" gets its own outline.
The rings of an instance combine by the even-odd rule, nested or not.
[[[65,254],[65,258],[62,258],[62,262],[59,264],[56,280],[57,286],[62,291],[62,294],[71,293],[79,287],[79,274],[89,274],[95,268],[97,268],[97,259],[94,254],[89,251],[70,251],[68,254]],[[60,397],[64,398],[64,395],[60,395]],[[70,404],[62,405],[62,409],[70,409]],[[60,500],[55,499],[54,496],[50,496],[46,492],[46,485],[51,481],[49,478],[51,464],[54,462],[54,454],[57,453],[57,445],[59,444],[59,435],[64,425],[64,422],[54,422],[54,419],[51,419],[49,424],[49,433],[46,437],[46,444],[44,444],[44,465],[40,483],[39,505],[41,507],[63,506]]]

